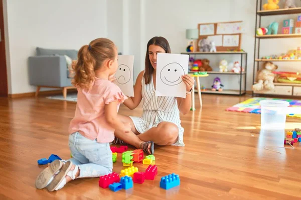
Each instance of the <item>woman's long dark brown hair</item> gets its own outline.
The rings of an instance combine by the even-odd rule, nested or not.
[[[150,63],[149,60],[149,55],[148,55],[148,47],[151,44],[155,44],[157,46],[162,47],[166,53],[171,53],[171,47],[167,41],[166,38],[164,37],[153,37],[147,42],[147,47],[146,47],[146,55],[145,55],[145,71],[144,71],[144,80],[145,84],[149,84],[150,80],[152,80],[152,73],[154,71],[154,68],[152,66],[152,63]]]

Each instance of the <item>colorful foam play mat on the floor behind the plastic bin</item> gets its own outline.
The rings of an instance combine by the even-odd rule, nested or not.
[[[236,111],[236,112],[249,112],[249,113],[256,113],[260,114],[260,100],[285,100],[289,102],[289,107],[298,107],[301,108],[301,100],[293,100],[293,99],[281,99],[281,98],[261,98],[261,97],[254,97],[249,98],[248,100],[242,101],[238,104],[233,105],[232,107],[228,107],[227,111]],[[287,116],[291,117],[298,117],[301,118],[301,113],[290,113]]]

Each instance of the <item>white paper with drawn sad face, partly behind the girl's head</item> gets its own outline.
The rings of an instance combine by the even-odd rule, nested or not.
[[[133,55],[118,55],[118,68],[115,73],[116,80],[114,83],[127,96],[134,96],[133,65]]]

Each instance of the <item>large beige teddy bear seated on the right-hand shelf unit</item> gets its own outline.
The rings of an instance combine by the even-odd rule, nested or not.
[[[275,85],[273,83],[275,74],[273,73],[273,71],[277,68],[278,66],[273,64],[272,62],[265,62],[263,64],[263,68],[258,72],[257,83],[253,84],[253,91],[259,91],[262,89],[270,90],[275,88]]]

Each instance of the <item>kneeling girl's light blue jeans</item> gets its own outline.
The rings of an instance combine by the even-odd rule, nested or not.
[[[99,177],[112,172],[112,151],[109,143],[98,143],[79,132],[69,136],[69,147],[73,164],[80,168],[80,177]]]

